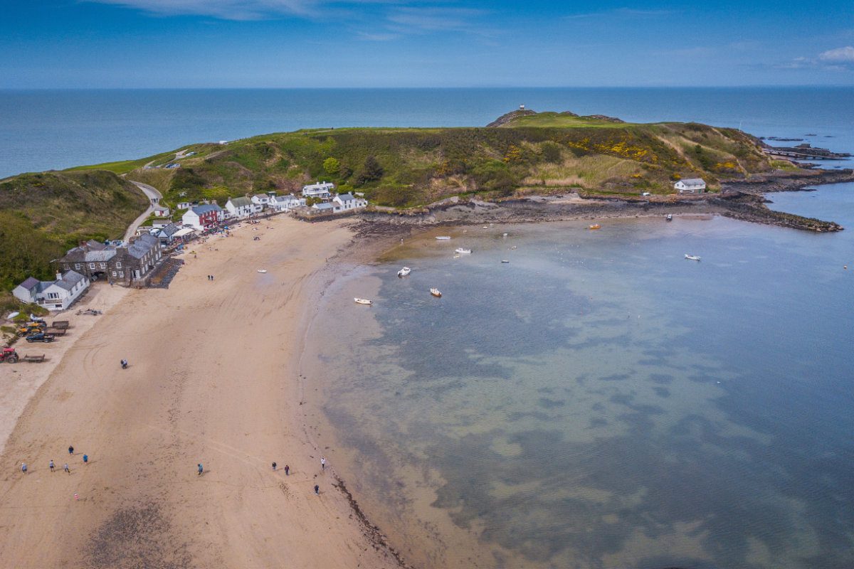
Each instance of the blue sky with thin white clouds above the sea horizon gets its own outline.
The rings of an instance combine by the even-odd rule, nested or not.
[[[0,2],[0,88],[854,85],[851,0]]]

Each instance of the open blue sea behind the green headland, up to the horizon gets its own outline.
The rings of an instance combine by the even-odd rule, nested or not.
[[[483,126],[522,104],[635,122],[740,127],[756,136],[803,138],[854,154],[851,86],[0,90],[0,178],[307,128]],[[779,144],[790,143],[799,142]]]

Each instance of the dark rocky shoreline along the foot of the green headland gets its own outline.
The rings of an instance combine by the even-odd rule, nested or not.
[[[527,196],[500,201],[477,198],[450,198],[430,206],[408,210],[371,208],[360,213],[362,230],[372,232],[372,224],[386,226],[431,226],[490,223],[536,223],[572,219],[640,218],[673,214],[721,215],[757,224],[776,225],[816,232],[844,229],[832,221],[804,218],[775,212],[765,204],[763,194],[798,191],[808,186],[854,181],[854,171],[798,171],[749,181],[723,184],[721,194],[666,196],[666,199],[622,198],[613,195]],[[662,196],[664,197],[664,196]],[[391,228],[389,228],[391,229]],[[392,229],[394,230],[394,229]]]

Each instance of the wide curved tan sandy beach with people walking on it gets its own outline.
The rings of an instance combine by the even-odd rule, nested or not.
[[[3,451],[3,565],[399,566],[335,465],[321,470],[301,412],[302,331],[348,223],[281,217],[215,237],[169,289],[123,291],[63,340]]]

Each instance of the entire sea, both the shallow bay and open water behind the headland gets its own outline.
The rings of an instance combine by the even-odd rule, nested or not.
[[[523,103],[854,152],[842,87],[2,91],[0,177]],[[768,197],[849,229],[482,224],[344,259],[301,357],[310,437],[413,566],[854,566],[854,184]]]

